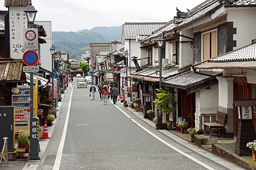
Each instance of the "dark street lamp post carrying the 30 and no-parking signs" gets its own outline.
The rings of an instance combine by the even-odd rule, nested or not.
[[[35,21],[35,15],[37,14],[37,10],[35,10],[34,6],[32,6],[31,0],[29,0],[29,5],[26,7],[24,10],[26,17],[27,17],[27,22],[29,24],[29,28],[33,28],[33,23]],[[34,117],[34,109],[33,109],[33,96],[34,96],[34,89],[33,89],[33,72],[30,72],[30,137],[33,138],[33,123],[39,121],[38,118],[33,118]],[[37,106],[36,106],[37,107]],[[30,140],[30,159],[31,160],[38,160],[39,159],[39,141],[36,138],[33,138]]]

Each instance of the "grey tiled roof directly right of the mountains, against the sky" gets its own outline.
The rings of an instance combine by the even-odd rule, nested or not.
[[[156,29],[165,25],[166,22],[159,23],[125,23],[123,24],[123,34],[125,39],[136,39],[136,35],[150,35]]]

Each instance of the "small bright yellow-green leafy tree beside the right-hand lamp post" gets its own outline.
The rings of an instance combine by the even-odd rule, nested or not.
[[[161,109],[159,112],[166,115],[167,127],[172,128],[172,121],[169,120],[169,114],[172,114],[176,110],[175,97],[170,91],[163,90],[162,88],[156,90],[157,98],[153,102],[156,103],[157,109]]]

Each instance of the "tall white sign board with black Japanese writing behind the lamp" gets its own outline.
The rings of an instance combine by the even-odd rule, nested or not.
[[[9,10],[9,31],[10,31],[10,57],[22,58],[25,52],[23,48],[23,29],[27,28],[27,17],[24,12],[26,7],[8,7]]]

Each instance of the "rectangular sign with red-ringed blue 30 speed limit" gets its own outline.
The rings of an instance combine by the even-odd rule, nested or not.
[[[24,50],[38,49],[38,29],[24,28],[23,29],[23,48]]]

